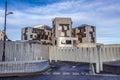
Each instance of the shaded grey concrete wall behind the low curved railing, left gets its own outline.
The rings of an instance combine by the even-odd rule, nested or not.
[[[2,61],[2,46],[0,41],[0,61]],[[30,61],[49,59],[49,47],[41,44],[25,42],[6,42],[6,61]]]

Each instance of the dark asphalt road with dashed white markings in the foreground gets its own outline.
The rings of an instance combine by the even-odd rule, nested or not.
[[[53,63],[53,69],[42,75],[6,77],[0,80],[120,80],[114,75],[89,75],[88,64],[58,62]]]

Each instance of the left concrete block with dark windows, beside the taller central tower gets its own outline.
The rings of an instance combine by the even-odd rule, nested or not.
[[[52,29],[46,25],[25,27],[22,29],[22,40],[38,40],[42,44],[52,44]]]

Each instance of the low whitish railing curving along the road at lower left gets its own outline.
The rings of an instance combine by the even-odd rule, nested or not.
[[[0,74],[38,72],[48,67],[47,60],[0,62]]]

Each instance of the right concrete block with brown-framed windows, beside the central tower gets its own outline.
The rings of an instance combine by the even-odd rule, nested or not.
[[[81,26],[73,28],[73,36],[78,38],[76,44],[96,43],[96,27],[83,24]]]

